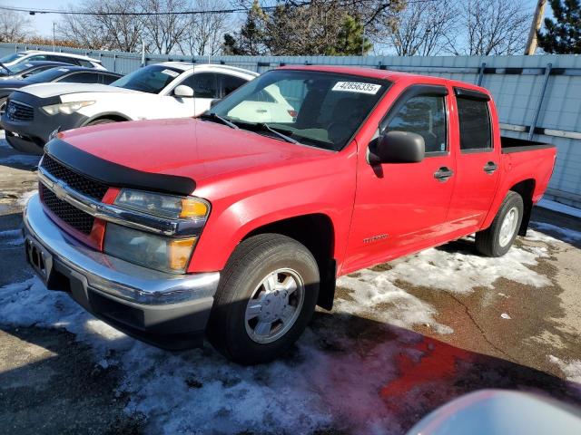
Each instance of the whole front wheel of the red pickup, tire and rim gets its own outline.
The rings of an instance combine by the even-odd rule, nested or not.
[[[298,241],[279,234],[249,237],[236,247],[222,272],[208,339],[234,362],[251,365],[275,359],[309,324],[319,282],[315,258]]]

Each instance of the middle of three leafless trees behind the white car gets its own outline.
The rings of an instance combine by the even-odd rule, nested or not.
[[[169,54],[178,49],[188,30],[190,18],[187,14],[174,14],[191,7],[187,0],[142,0],[144,11],[149,13],[171,13],[143,15],[144,40],[150,50]]]

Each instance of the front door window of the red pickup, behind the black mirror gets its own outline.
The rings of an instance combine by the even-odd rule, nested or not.
[[[426,143],[426,153],[447,150],[446,102],[443,96],[418,95],[410,98],[389,121],[386,131],[419,134]]]

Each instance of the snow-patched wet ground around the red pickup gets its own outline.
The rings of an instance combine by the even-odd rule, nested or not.
[[[0,433],[388,433],[482,388],[581,404],[581,222],[537,208],[501,259],[467,238],[342,277],[279,362],[167,353],[49,292],[18,228],[37,158],[0,140]]]

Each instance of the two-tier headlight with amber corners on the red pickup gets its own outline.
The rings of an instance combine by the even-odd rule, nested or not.
[[[122,189],[113,204],[172,220],[203,219],[210,213],[210,204],[201,198],[136,189]],[[110,222],[105,229],[103,252],[136,265],[181,274],[197,241],[198,236],[165,237]]]

